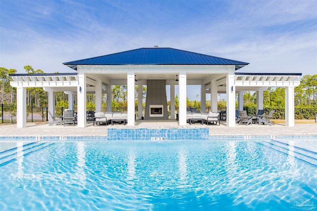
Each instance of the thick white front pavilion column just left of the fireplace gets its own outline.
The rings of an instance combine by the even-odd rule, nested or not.
[[[135,83],[135,78],[134,78],[134,72],[128,71],[128,126],[134,126],[134,83]]]

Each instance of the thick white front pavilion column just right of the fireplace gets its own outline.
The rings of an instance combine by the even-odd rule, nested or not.
[[[179,93],[178,124],[179,126],[186,126],[186,72],[179,73],[178,93]]]

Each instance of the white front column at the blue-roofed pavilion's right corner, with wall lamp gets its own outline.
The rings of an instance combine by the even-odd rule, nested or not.
[[[234,85],[234,70],[227,74],[227,127],[235,127],[236,121],[236,88]]]

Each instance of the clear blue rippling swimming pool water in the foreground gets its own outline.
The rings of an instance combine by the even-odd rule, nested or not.
[[[317,209],[316,153],[274,142],[0,144],[1,211]]]

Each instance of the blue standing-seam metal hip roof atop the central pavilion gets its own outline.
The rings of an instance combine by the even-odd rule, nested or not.
[[[236,70],[249,63],[169,47],[138,48],[104,56],[65,62],[77,65],[235,65]]]

